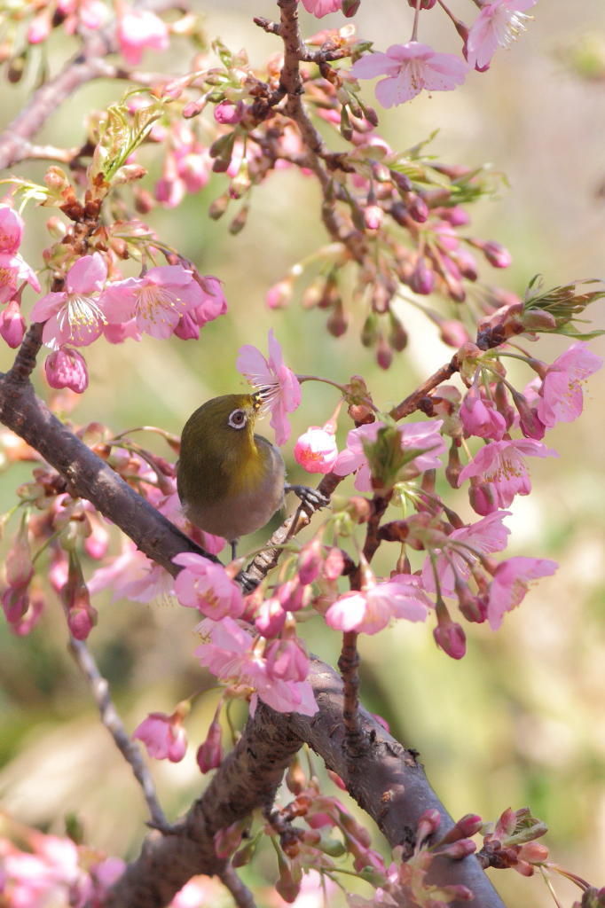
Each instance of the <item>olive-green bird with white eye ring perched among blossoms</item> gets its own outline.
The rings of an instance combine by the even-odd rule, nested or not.
[[[254,433],[265,399],[261,389],[206,400],[181,436],[176,489],[183,513],[227,539],[233,559],[238,539],[268,523],[283,508],[285,492],[301,498],[309,513],[328,503],[318,489],[287,483],[280,450]]]

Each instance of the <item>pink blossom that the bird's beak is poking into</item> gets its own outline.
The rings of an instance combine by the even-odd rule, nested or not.
[[[290,423],[286,416],[301,402],[301,385],[291,369],[283,362],[282,348],[269,331],[269,359],[250,344],[239,350],[236,368],[253,386],[262,392],[263,402],[271,410],[270,425],[275,430],[275,443],[283,445],[290,438]]]

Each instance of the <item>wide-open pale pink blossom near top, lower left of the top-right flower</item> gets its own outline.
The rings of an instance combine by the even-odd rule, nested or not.
[[[438,54],[429,44],[409,41],[392,44],[385,54],[362,56],[352,65],[356,79],[386,75],[376,85],[376,97],[383,107],[404,104],[425,88],[429,92],[451,91],[464,82],[467,64],[455,54]]]

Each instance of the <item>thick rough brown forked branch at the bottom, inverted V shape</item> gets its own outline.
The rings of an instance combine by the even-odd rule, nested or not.
[[[213,834],[243,819],[253,807],[271,803],[283,770],[303,741],[341,776],[389,843],[403,846],[405,857],[412,854],[418,820],[425,810],[440,812],[440,836],[451,828],[451,817],[431,790],[415,753],[363,709],[359,713],[362,755],[354,761],[348,758],[342,682],[318,659],[312,660],[310,680],[319,713],[312,717],[284,715],[259,704],[242,738],[178,824],[176,834],[149,836],[141,856],[115,885],[108,908],[162,908],[193,874],[223,874],[223,864],[213,851]],[[429,878],[432,883],[468,886],[476,908],[504,908],[474,856],[463,861],[436,858]],[[451,903],[451,908],[461,908],[461,903]]]

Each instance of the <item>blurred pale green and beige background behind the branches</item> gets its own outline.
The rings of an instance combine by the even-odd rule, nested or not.
[[[461,15],[472,15],[470,4],[460,6]],[[252,15],[275,15],[270,0],[196,7],[207,14],[209,35],[221,35],[233,50],[246,46],[253,63],[262,64],[277,50],[276,41],[251,21]],[[532,12],[527,33],[497,54],[488,74],[470,74],[456,92],[422,96],[382,116],[394,148],[409,147],[439,126],[432,148],[441,160],[491,163],[506,174],[510,188],[502,186],[496,198],[473,206],[472,230],[509,247],[511,269],[496,277],[518,292],[537,272],[547,285],[605,277],[605,78],[581,80],[565,59],[567,49],[586,46],[587,37],[597,48],[605,44],[605,6],[602,0],[542,0]],[[365,0],[358,32],[384,49],[407,40],[411,16],[402,0]],[[315,20],[302,17],[309,31],[317,30]],[[458,49],[438,9],[424,21],[421,40],[441,50]],[[322,20],[322,25],[341,23],[335,15]],[[52,45],[50,64],[56,67],[72,50],[66,42]],[[182,52],[177,49],[172,60],[164,54],[161,64],[179,71]],[[5,90],[5,124],[25,103],[33,80],[30,74]],[[61,143],[77,144],[83,116],[121,92],[110,83],[84,86],[51,116],[40,140],[57,143],[60,137]],[[366,97],[372,102],[370,85]],[[150,184],[159,176],[153,166]],[[38,165],[14,172],[38,179],[42,173]],[[228,314],[204,328],[200,341],[95,344],[88,355],[90,389],[72,419],[99,420],[115,431],[152,424],[179,432],[203,400],[243,388],[234,368],[236,352],[243,343],[263,349],[271,326],[295,370],[336,381],[362,373],[374,400],[385,407],[449,359],[451,350],[405,304],[401,311],[411,342],[388,372],[378,370],[359,343],[361,315],[335,340],[325,331],[322,312],[302,311],[295,302],[284,311],[267,311],[268,287],[316,247],[315,187],[297,173],[273,175],[254,192],[248,225],[237,237],[228,234],[226,220],[207,216],[209,202],[224,188],[225,178],[218,175],[176,212],[157,210],[149,221],[203,273],[224,281]],[[25,254],[33,263],[47,242],[45,216],[33,211],[30,220],[28,214]],[[605,307],[595,305],[590,315],[596,327],[604,326]],[[551,361],[567,345],[564,339],[547,339],[537,353]],[[605,354],[602,339],[591,347]],[[9,363],[3,348],[0,367]],[[521,386],[531,378],[521,369],[511,374]],[[42,390],[39,377],[38,383]],[[309,423],[329,417],[335,393],[326,385],[304,386],[294,438]],[[555,577],[541,581],[497,635],[472,626],[461,662],[438,652],[426,627],[400,624],[362,641],[365,704],[421,752],[451,814],[496,818],[508,806],[528,804],[550,827],[553,859],[599,885],[605,884],[603,400],[601,373],[590,380],[581,419],[548,436],[560,459],[532,464],[535,490],[511,508],[510,553],[557,558]],[[303,481],[291,451],[292,445],[285,452],[290,476]],[[0,477],[2,511],[12,507],[15,485],[28,475],[27,468],[15,468]],[[452,493],[451,504],[464,510],[461,493]],[[7,538],[15,528],[8,525]],[[262,540],[248,541],[252,548]],[[192,656],[193,621],[183,609],[110,597],[99,597],[96,605],[100,622],[91,646],[129,729],[148,711],[170,712],[183,696],[208,684]],[[312,649],[333,662],[336,640],[322,633],[319,621],[309,624],[307,635]],[[196,743],[205,735],[215,700],[211,693],[196,701],[189,722]],[[193,755],[182,765],[154,765],[154,775],[170,816],[185,809],[203,785]],[[66,655],[60,607],[50,598],[30,637],[17,639],[0,624],[0,797],[16,818],[57,833],[64,830],[65,814],[77,814],[89,840],[111,854],[134,855],[141,842],[142,798]],[[381,847],[380,838],[377,844]],[[270,856],[261,870],[272,878]],[[492,878],[511,906],[551,903],[538,876],[524,880],[509,871]],[[555,882],[561,904],[570,905],[577,891]]]

